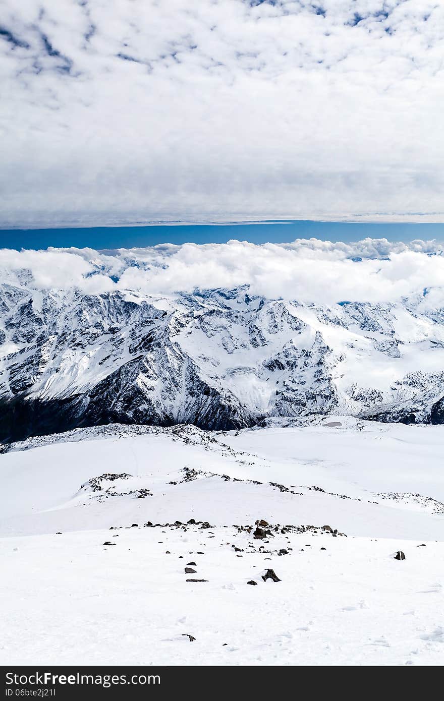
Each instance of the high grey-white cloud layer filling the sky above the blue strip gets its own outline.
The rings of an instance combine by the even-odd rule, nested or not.
[[[1,0],[0,226],[443,221],[440,0]]]

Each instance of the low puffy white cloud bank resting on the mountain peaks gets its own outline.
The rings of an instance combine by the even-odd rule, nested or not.
[[[120,290],[163,296],[250,285],[250,293],[271,299],[325,304],[394,302],[415,294],[424,306],[444,307],[443,248],[419,240],[405,244],[369,238],[345,244],[298,239],[264,245],[232,240],[108,252],[0,250],[0,278],[14,285],[25,281],[38,290],[77,287],[87,294]]]

